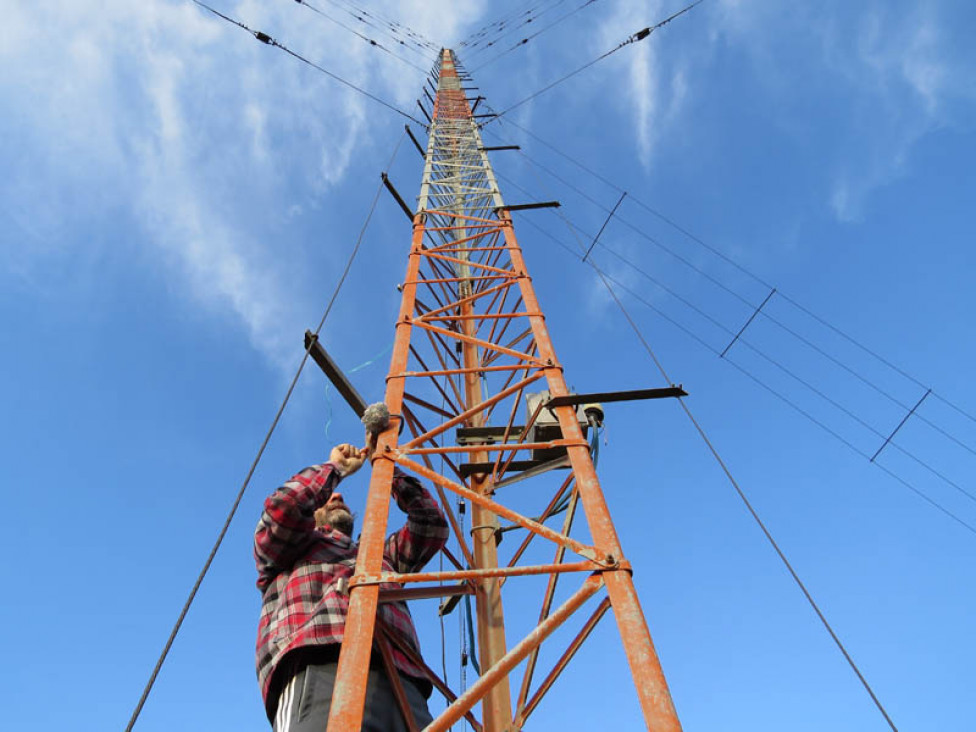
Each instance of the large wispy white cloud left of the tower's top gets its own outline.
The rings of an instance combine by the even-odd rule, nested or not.
[[[422,74],[306,8],[217,5],[394,104],[416,97]],[[483,7],[383,11],[437,38]],[[413,58],[426,69],[433,52]],[[175,293],[235,319],[278,363],[279,334],[300,317],[287,285],[302,262],[269,250],[262,221],[300,216],[296,189],[335,192],[390,113],[189,2],[14,4],[0,63],[11,110],[0,215],[13,224],[0,265],[34,281],[65,256],[102,256],[74,234],[116,226],[121,211],[138,225],[128,236],[150,245],[143,256],[182,283]]]

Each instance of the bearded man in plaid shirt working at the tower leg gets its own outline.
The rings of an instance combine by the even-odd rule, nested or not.
[[[305,468],[264,502],[254,534],[257,585],[264,597],[257,671],[275,732],[325,730],[349,608],[348,579],[359,549],[352,539],[353,515],[335,489],[371,453],[370,447],[339,445],[329,462]],[[406,512],[407,523],[387,538],[383,569],[416,572],[444,546],[447,522],[420,482],[399,470],[393,478],[393,498]],[[405,603],[383,603],[378,616],[419,654]],[[431,684],[396,647],[392,650],[417,726],[423,728],[431,721]],[[362,729],[405,732],[390,680],[379,654],[373,655]]]

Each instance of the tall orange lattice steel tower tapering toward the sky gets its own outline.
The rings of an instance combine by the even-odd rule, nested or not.
[[[510,210],[516,207],[502,201],[462,87],[466,74],[452,51],[441,52],[435,75],[423,182],[386,383],[386,404],[399,420],[380,435],[373,458],[329,729],[360,729],[373,648],[390,663],[397,640],[377,624],[378,603],[468,594],[477,608],[481,675],[455,696],[428,668],[449,702],[428,730],[446,730],[462,717],[476,730],[522,729],[608,609],[648,729],[679,730],[631,567],[594,470],[586,435],[595,432],[602,412],[599,405],[581,404],[566,388],[515,237]],[[454,565],[450,571],[382,571],[394,465],[436,487],[460,548],[460,557],[445,550]],[[450,493],[470,507],[469,534],[451,510]],[[578,506],[589,541],[574,538]],[[561,529],[547,526],[547,519],[562,510]],[[524,539],[510,540],[506,549],[517,546],[500,563],[499,542],[509,530]],[[552,559],[529,561],[540,553]],[[510,580],[515,585],[532,576],[544,587],[538,624],[524,637],[508,638],[503,590]],[[554,609],[560,577],[564,587],[571,583],[575,589]],[[533,689],[541,644],[594,596],[599,599],[582,629]],[[513,672],[523,662],[516,679]],[[396,687],[397,676],[391,676]],[[397,690],[404,707],[402,689]],[[410,725],[416,728],[412,720]]]

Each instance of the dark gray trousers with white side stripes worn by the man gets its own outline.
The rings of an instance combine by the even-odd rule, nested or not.
[[[299,669],[288,680],[278,697],[274,732],[325,732],[338,666],[337,661],[310,664]],[[420,689],[402,675],[400,681],[410,702],[417,729],[423,729],[433,721],[427,709],[427,700]],[[362,732],[407,732],[408,729],[386,672],[370,667]]]

